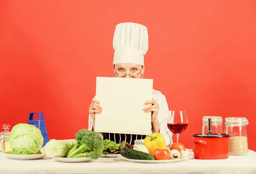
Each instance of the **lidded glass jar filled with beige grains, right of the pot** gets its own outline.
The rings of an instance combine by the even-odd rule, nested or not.
[[[246,155],[248,120],[245,117],[227,117],[225,121],[224,132],[230,135],[230,155]]]

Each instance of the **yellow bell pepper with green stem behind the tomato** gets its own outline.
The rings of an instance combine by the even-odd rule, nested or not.
[[[144,139],[146,148],[148,148],[149,154],[153,155],[154,151],[159,149],[166,149],[166,142],[162,133],[152,133]]]

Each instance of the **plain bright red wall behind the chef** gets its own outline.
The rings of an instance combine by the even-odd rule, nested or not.
[[[187,111],[180,142],[192,148],[202,116],[243,116],[256,150],[256,1],[126,2],[1,1],[0,124],[38,111],[51,139],[87,128],[96,76],[113,76],[115,26],[136,22],[149,32],[145,78]]]

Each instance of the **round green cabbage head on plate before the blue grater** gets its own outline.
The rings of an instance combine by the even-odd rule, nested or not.
[[[15,154],[36,154],[43,144],[44,137],[34,125],[20,123],[12,128],[10,145]]]

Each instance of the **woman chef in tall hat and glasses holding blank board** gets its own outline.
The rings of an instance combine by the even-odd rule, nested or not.
[[[119,23],[116,26],[113,37],[113,72],[120,78],[143,78],[145,71],[144,55],[148,51],[148,30],[138,23]],[[172,133],[167,128],[167,116],[169,108],[165,96],[157,90],[153,90],[153,99],[145,101],[145,104],[152,104],[145,107],[145,112],[151,112],[152,132],[163,134],[166,147],[172,143]],[[103,108],[104,110],[104,108]],[[93,130],[95,113],[101,113],[100,101],[92,99],[89,107],[89,128]],[[116,143],[122,141],[134,144],[136,139],[145,139],[146,135],[132,135],[122,133],[99,133],[103,139]]]

